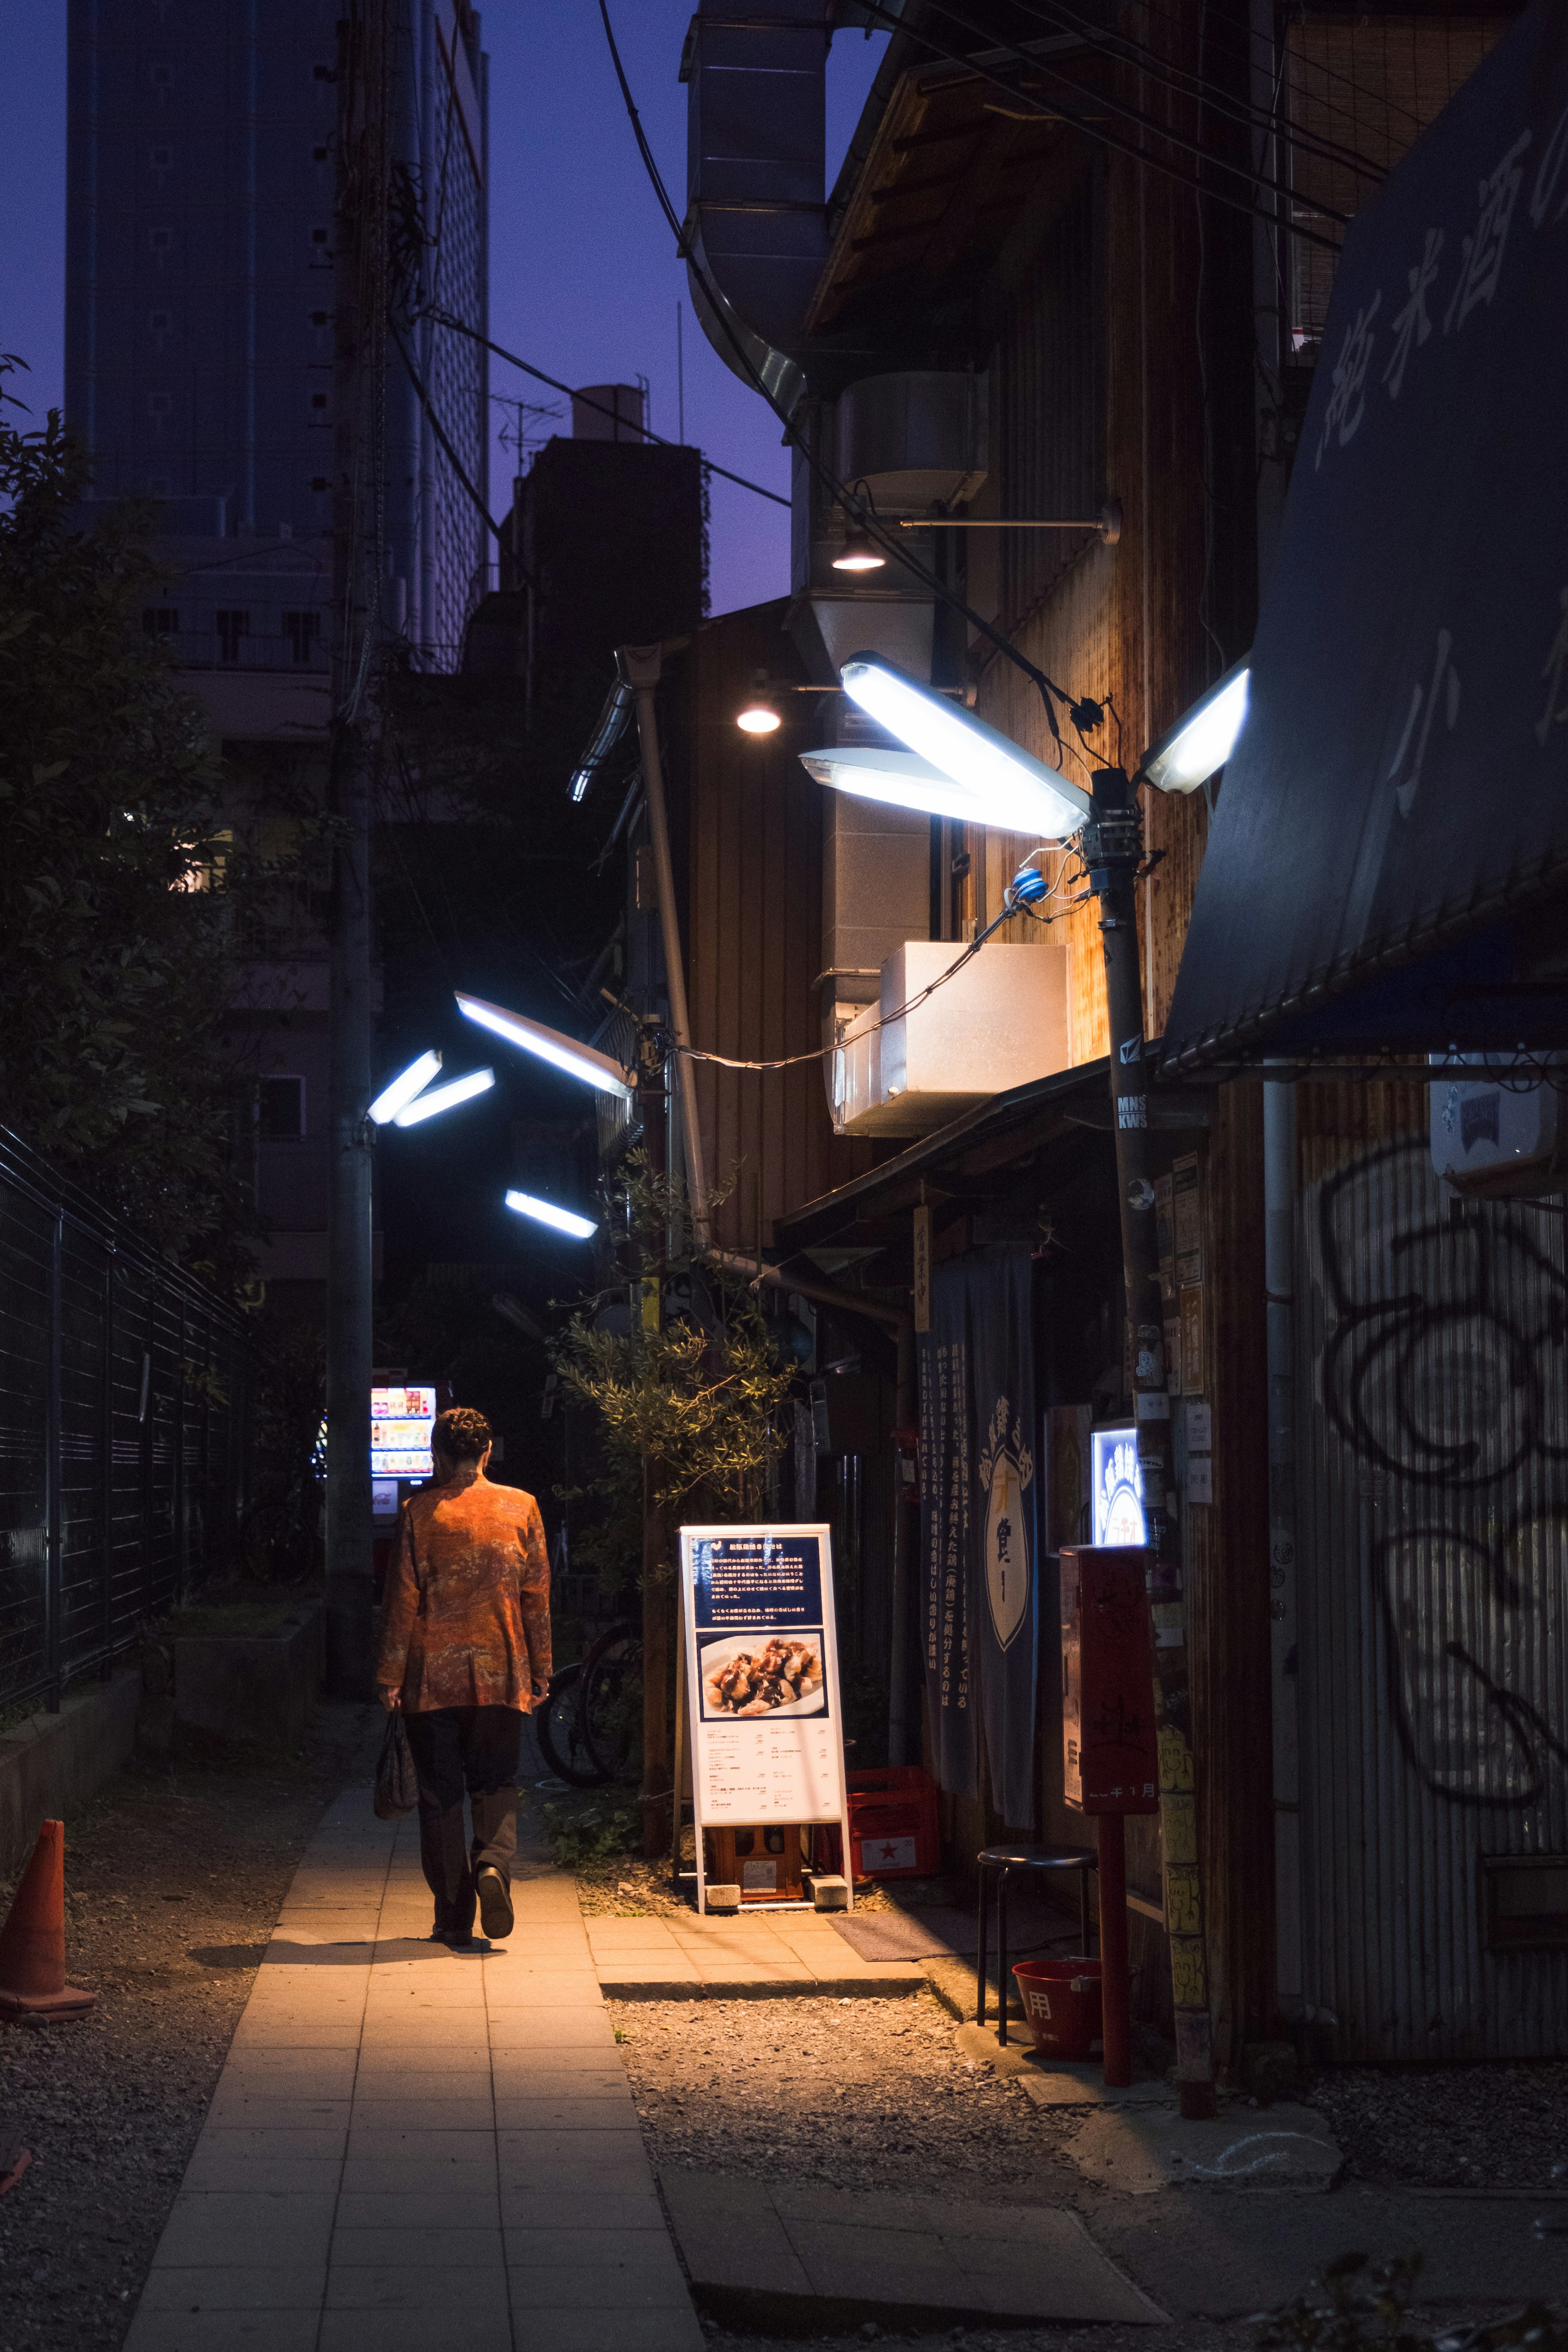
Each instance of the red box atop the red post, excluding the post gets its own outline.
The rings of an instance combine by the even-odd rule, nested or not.
[[[1154,1813],[1147,1552],[1074,1543],[1060,1557],[1067,1804],[1077,1813]]]

